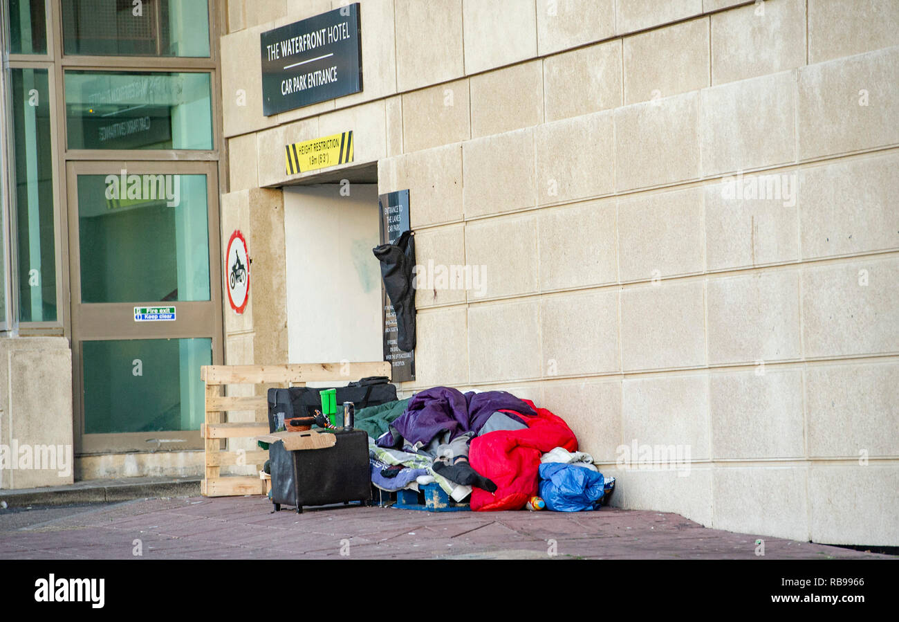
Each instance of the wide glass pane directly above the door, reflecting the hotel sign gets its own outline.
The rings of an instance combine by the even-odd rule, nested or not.
[[[211,149],[209,74],[66,72],[70,149]]]

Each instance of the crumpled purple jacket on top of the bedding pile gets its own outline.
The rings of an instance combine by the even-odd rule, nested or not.
[[[465,395],[449,387],[432,387],[416,393],[405,412],[390,424],[387,433],[378,438],[380,447],[396,447],[401,439],[414,445],[426,445],[442,431],[449,431],[449,440],[467,431],[477,433],[496,411],[511,410],[534,416],[528,404],[506,391],[469,391]]]

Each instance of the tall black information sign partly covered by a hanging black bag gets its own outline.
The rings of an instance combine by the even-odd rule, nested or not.
[[[396,239],[409,229],[409,191],[387,192],[378,196],[381,210],[381,244],[394,244]],[[396,312],[381,287],[381,308],[384,309],[384,360],[392,366],[394,382],[415,379],[415,352],[405,352],[396,346]]]

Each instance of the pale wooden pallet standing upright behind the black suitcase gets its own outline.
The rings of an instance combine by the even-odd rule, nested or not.
[[[222,395],[226,385],[280,385],[305,387],[307,382],[344,384],[368,376],[390,377],[390,363],[306,363],[300,365],[204,365],[200,378],[206,384],[206,421],[200,424],[205,449],[200,493],[206,497],[265,494],[258,475],[221,475],[221,467],[255,465],[262,470],[269,452],[263,449],[232,451],[228,439],[252,439],[268,434],[266,395]],[[255,411],[255,422],[228,422],[229,411]]]

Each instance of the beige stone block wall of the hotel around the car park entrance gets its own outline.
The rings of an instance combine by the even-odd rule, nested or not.
[[[271,117],[260,33],[347,3],[227,4],[222,231],[262,275],[228,363],[287,360],[280,188],[332,171],[283,146],[352,129],[418,261],[485,266],[418,291],[405,394],[534,399],[622,507],[899,545],[899,4],[361,0],[364,90]]]

